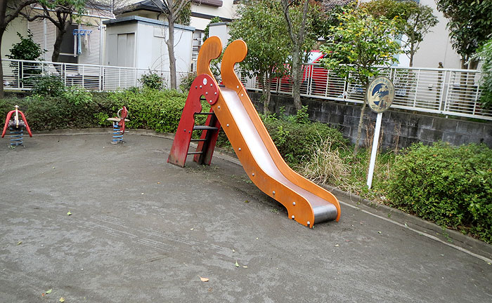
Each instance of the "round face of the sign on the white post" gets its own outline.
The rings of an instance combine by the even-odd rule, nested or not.
[[[388,77],[378,76],[370,81],[368,90],[365,92],[370,109],[380,113],[389,109],[394,99],[394,85]]]

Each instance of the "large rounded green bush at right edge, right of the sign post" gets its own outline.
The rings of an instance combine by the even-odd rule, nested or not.
[[[392,206],[492,243],[492,150],[484,144],[414,144],[387,183]]]

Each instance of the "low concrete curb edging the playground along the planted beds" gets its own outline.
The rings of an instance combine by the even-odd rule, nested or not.
[[[84,128],[84,129],[63,129],[63,130],[44,130],[35,132],[36,135],[108,135],[112,133],[112,128]],[[174,140],[174,133],[157,133],[155,130],[145,130],[145,129],[131,129],[125,131],[129,135],[146,135],[151,137],[162,137],[164,139]],[[191,146],[196,147],[196,144],[191,144]],[[217,153],[218,152],[218,153]],[[231,152],[224,149],[217,148],[214,153],[219,159],[235,163],[242,166],[237,156]],[[383,204],[374,203],[368,199],[362,198],[356,194],[351,194],[347,191],[342,191],[336,187],[329,185],[318,184],[319,186],[331,191],[335,196],[343,198],[347,205],[358,208],[377,215],[383,220],[394,222],[396,224],[408,227],[417,232],[422,232],[429,234],[432,238],[436,238],[438,241],[451,245],[453,247],[462,248],[467,250],[467,253],[471,252],[473,255],[481,256],[480,259],[486,262],[491,262],[492,260],[492,245],[485,243],[484,241],[479,241],[476,238],[461,234],[459,231],[453,229],[447,229],[440,227],[439,225],[416,217],[415,215],[410,215],[408,213],[403,213],[403,211],[396,208],[391,208]],[[362,206],[362,207],[361,207]]]

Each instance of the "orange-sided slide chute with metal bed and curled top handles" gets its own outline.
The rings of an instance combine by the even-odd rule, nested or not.
[[[198,54],[197,74],[199,77],[202,74],[211,76],[207,76],[207,79],[212,79],[214,86],[216,82],[209,64],[211,60],[219,58],[221,51],[219,37],[212,36],[205,41]],[[233,41],[226,48],[221,63],[225,87],[218,88],[219,97],[211,105],[211,112],[214,112],[226,133],[248,177],[261,191],[282,203],[291,219],[307,227],[328,220],[338,221],[340,206],[337,198],[330,191],[294,172],[278,153],[234,72],[234,65],[244,60],[246,55],[247,46],[242,40]]]

